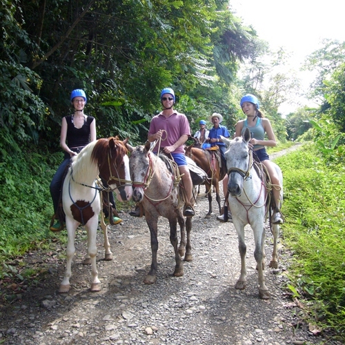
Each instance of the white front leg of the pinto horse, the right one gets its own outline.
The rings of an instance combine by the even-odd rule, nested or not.
[[[91,259],[91,292],[97,293],[101,290],[101,282],[98,278],[98,271],[97,271],[97,227],[98,227],[98,217],[94,216],[93,218],[89,219],[88,223],[86,224],[88,228],[88,255]]]

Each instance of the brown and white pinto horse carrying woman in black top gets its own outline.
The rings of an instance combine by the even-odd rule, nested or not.
[[[96,235],[101,212],[97,177],[107,181],[108,188],[116,193],[119,201],[132,197],[130,182],[129,159],[125,141],[117,138],[98,139],[88,144],[81,152],[72,158],[62,188],[63,211],[66,215],[68,233],[66,272],[61,282],[59,292],[67,293],[70,289],[72,258],[75,255],[75,231],[81,224],[88,233],[88,257],[91,263],[91,291],[101,290],[98,279],[96,255]],[[106,255],[110,256],[110,244],[106,228],[103,228]]]

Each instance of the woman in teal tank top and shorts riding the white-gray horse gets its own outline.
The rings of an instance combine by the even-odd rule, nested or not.
[[[275,167],[270,161],[270,157],[266,152],[265,146],[276,146],[275,134],[268,119],[264,118],[262,112],[259,111],[259,100],[254,95],[244,95],[242,97],[240,106],[244,114],[247,115],[245,120],[238,121],[236,124],[235,137],[240,137],[246,128],[249,128],[252,135],[252,139],[249,141],[249,146],[253,148],[253,151],[257,155],[259,161],[266,166],[270,175],[270,180],[273,184],[273,197],[275,199],[276,208],[274,210],[271,223],[282,224],[284,220],[280,213],[280,190],[279,178]],[[265,140],[265,133],[268,140]]]

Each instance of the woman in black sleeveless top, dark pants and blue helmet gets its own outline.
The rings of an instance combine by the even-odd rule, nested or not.
[[[66,167],[70,163],[70,159],[76,156],[82,148],[88,145],[91,141],[95,141],[96,134],[96,119],[95,117],[84,114],[84,107],[88,99],[84,90],[76,89],[70,94],[70,102],[74,108],[74,113],[63,117],[61,122],[60,146],[65,152],[63,161],[60,164],[57,172],[50,183],[50,195],[52,196],[52,204],[54,207],[54,214],[57,215],[59,207],[60,193],[63,183],[63,177]],[[112,193],[110,193],[112,195]],[[110,196],[111,199],[111,196]],[[112,200],[114,200],[112,196]],[[110,202],[112,202],[110,200]],[[115,207],[115,203],[112,202]],[[114,222],[119,224],[121,219],[115,217]],[[60,224],[59,219],[55,224],[50,226],[50,230],[59,231],[63,229],[63,224]]]

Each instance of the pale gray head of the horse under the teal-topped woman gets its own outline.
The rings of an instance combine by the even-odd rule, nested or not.
[[[249,177],[251,153],[248,149],[250,140],[250,130],[246,128],[242,137],[235,137],[233,140],[221,136],[221,140],[226,144],[226,168],[228,169],[228,192],[233,197],[240,197],[243,190],[244,181]]]

